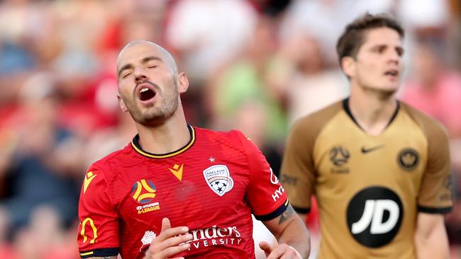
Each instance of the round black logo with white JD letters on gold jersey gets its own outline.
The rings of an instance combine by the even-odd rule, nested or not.
[[[399,232],[404,215],[399,196],[383,187],[358,192],[348,205],[350,233],[364,246],[378,248],[390,243]]]

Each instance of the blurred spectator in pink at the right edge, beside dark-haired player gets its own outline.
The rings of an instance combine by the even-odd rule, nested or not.
[[[437,42],[421,40],[414,46],[413,69],[402,87],[409,105],[442,122],[452,138],[461,137],[461,74],[448,69]]]

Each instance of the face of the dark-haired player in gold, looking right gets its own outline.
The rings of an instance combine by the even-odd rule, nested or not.
[[[391,28],[370,29],[355,59],[346,62],[346,74],[352,86],[394,93],[404,69],[404,48],[399,33]]]

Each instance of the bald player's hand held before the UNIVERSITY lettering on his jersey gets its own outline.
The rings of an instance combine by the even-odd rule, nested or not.
[[[192,240],[192,235],[186,234],[187,231],[189,231],[187,226],[172,228],[170,219],[162,219],[162,230],[160,234],[152,240],[152,243],[150,243],[150,247],[145,253],[144,259],[172,258],[172,256],[186,251],[191,245],[185,242]],[[182,257],[178,257],[177,259],[179,258]]]

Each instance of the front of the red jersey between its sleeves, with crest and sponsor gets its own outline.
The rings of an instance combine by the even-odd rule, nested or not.
[[[192,148],[168,159],[145,158],[127,168],[123,179],[114,180],[121,200],[123,247],[146,249],[160,234],[165,217],[172,227],[189,227],[194,236],[189,255],[217,245],[247,246],[252,231],[244,198],[249,170],[228,156],[212,146]]]

